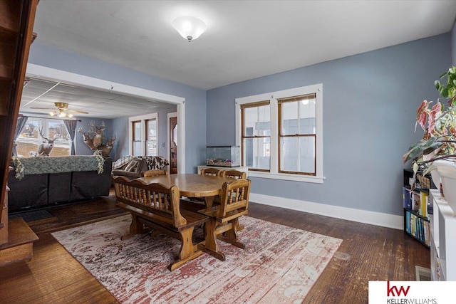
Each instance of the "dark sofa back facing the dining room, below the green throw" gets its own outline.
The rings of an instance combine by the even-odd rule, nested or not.
[[[109,195],[112,159],[105,159],[103,172],[73,171],[25,174],[21,179],[9,172],[9,211],[21,211],[59,203],[83,201]]]

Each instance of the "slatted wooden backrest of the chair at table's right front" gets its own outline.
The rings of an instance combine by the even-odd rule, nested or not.
[[[224,182],[220,195],[220,206],[215,216],[219,219],[229,220],[247,214],[249,195],[250,179]]]

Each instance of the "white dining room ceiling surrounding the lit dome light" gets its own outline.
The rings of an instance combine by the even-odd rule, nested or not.
[[[191,43],[172,28],[186,15],[207,24]],[[41,43],[209,90],[447,33],[455,17],[455,0],[41,0],[33,30]]]

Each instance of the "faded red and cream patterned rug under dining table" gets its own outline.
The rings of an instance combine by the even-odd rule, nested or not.
[[[246,249],[219,241],[226,261],[203,253],[171,272],[180,243],[165,234],[120,241],[130,221],[52,234],[120,303],[301,303],[342,242],[242,216]]]

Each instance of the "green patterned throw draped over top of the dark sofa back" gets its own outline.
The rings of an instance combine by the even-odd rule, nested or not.
[[[100,155],[71,155],[53,157],[12,157],[11,164],[16,172],[16,179],[26,174],[48,174],[76,171],[103,172],[105,159]]]

